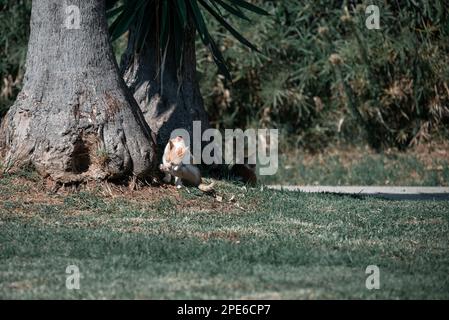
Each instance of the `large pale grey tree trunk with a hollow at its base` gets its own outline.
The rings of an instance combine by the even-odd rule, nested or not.
[[[68,29],[66,5],[80,9]],[[104,0],[33,0],[23,90],[0,130],[4,162],[64,182],[147,176],[155,145],[120,77]]]

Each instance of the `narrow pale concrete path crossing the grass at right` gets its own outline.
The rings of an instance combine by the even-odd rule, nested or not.
[[[336,193],[377,196],[392,200],[449,200],[449,187],[388,187],[388,186],[267,186],[274,190],[307,193]]]

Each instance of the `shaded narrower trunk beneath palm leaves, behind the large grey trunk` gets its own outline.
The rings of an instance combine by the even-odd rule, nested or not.
[[[156,26],[152,30],[157,30]],[[156,134],[159,150],[164,150],[174,129],[186,129],[192,139],[193,121],[201,121],[201,131],[209,127],[196,78],[193,23],[190,22],[184,34],[183,62],[179,74],[176,68],[173,36],[167,48],[163,70],[159,70],[161,54],[158,32],[150,31],[139,55],[134,55],[135,36],[135,30],[131,28],[128,47],[122,57],[121,71],[145,120]]]

